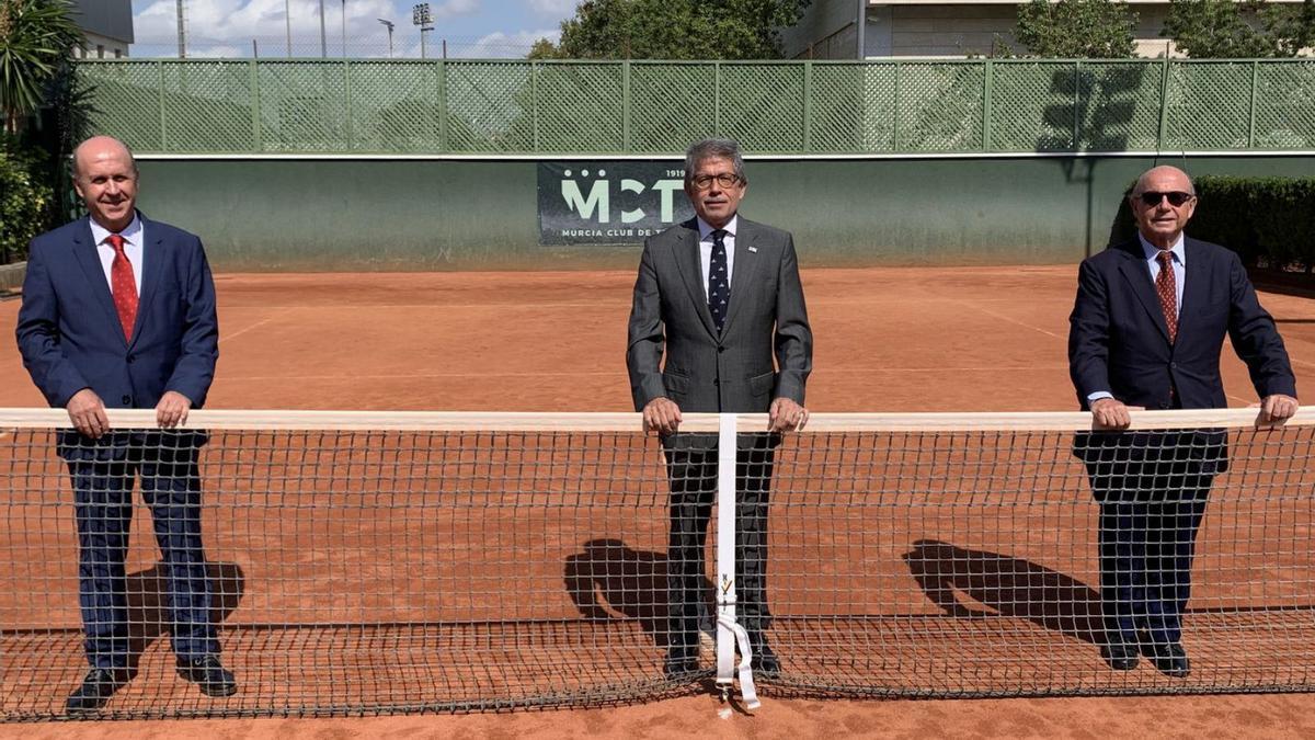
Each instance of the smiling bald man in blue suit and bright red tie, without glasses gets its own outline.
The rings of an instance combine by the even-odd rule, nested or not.
[[[91,216],[32,241],[18,311],[24,365],[74,427],[58,449],[72,475],[91,670],[70,712],[99,710],[129,678],[124,558],[138,477],[168,583],[178,672],[208,695],[237,691],[210,621],[197,467],[205,436],[172,431],[214,378],[214,283],[200,240],[135,209],[137,180],[121,142],[95,137],[78,147],[74,187]],[[107,407],[155,408],[162,429],[110,429]]]

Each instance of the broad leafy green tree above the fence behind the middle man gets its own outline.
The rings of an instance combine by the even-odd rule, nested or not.
[[[585,0],[531,59],[778,59],[811,0]]]

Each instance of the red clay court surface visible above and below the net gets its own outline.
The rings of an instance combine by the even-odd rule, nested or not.
[[[809,407],[1060,411],[1076,267],[813,270]],[[630,411],[630,273],[218,275],[210,408]],[[1315,302],[1262,295],[1308,388]],[[0,303],[13,325],[18,303]],[[1252,403],[1226,349],[1230,402]],[[12,342],[0,406],[38,406]],[[141,540],[138,540],[141,541]],[[141,545],[134,545],[139,548]],[[71,554],[71,553],[70,553]],[[1084,574],[1090,583],[1090,575]],[[1310,695],[1010,700],[767,698],[719,719],[711,697],[608,710],[377,719],[0,727],[24,737],[414,736],[1310,736]]]

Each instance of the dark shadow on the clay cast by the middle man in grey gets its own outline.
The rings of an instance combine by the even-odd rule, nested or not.
[[[634,619],[659,648],[667,647],[667,556],[635,550],[621,540],[600,539],[584,544],[584,552],[567,557],[567,594],[590,620]],[[700,604],[700,621],[710,624],[709,603],[715,598],[713,582],[704,578],[706,599]]]

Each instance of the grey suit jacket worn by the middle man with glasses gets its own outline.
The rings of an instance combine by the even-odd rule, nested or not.
[[[707,309],[697,221],[646,240],[626,366],[635,411],[659,396],[689,412],[765,412],[775,398],[802,404],[813,330],[790,234],[740,216],[721,332]]]

